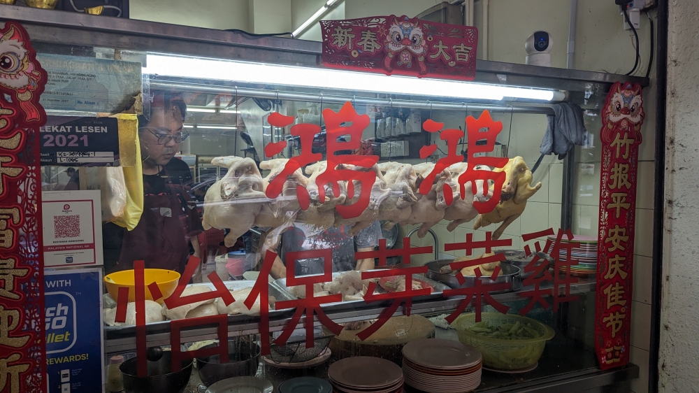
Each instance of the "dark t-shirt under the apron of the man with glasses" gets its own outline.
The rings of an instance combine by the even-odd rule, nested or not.
[[[182,194],[185,194],[192,186],[192,173],[189,171],[189,166],[181,159],[171,159],[157,175],[143,175],[143,194],[157,195],[161,193],[170,193],[171,190],[168,190],[168,178],[165,177],[166,174],[169,176],[169,180],[173,187],[180,189],[178,194],[180,194],[179,199],[182,205],[182,214],[191,216],[189,220],[187,220],[185,234],[190,237],[200,234],[203,232],[203,227],[201,226],[199,215],[196,213],[196,208],[187,208],[188,203],[194,202],[191,200],[187,201],[185,197],[182,196]],[[172,192],[175,191],[177,190],[172,190]],[[110,273],[119,260],[122,252],[125,230],[124,227],[120,227],[111,222],[102,225],[102,248],[106,273]]]

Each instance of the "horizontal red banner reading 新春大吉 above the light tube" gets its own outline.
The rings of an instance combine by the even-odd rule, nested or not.
[[[325,66],[419,78],[475,78],[475,27],[405,15],[322,20],[320,24]]]

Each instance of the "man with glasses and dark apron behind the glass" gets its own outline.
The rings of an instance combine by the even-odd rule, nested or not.
[[[190,253],[199,257],[197,236],[203,231],[196,204],[185,191],[192,182],[189,166],[173,159],[189,134],[183,127],[187,106],[178,94],[156,92],[150,120],[138,116],[138,138],[143,159],[143,214],[131,231],[105,224],[102,228],[106,274],[134,268],[182,273]],[[192,245],[192,250],[189,244]]]

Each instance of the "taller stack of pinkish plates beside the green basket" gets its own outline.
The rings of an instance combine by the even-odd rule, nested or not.
[[[422,338],[403,347],[405,383],[429,393],[470,392],[480,385],[483,358],[459,341]]]

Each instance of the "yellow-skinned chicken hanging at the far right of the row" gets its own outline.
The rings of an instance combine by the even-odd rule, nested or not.
[[[494,171],[505,172],[505,183],[500,193],[500,202],[490,213],[478,216],[473,229],[487,227],[490,224],[502,222],[493,232],[493,239],[502,236],[508,225],[517,220],[526,207],[527,199],[531,198],[541,188],[541,182],[531,187],[533,180],[531,171],[522,157],[514,157],[503,167]]]

